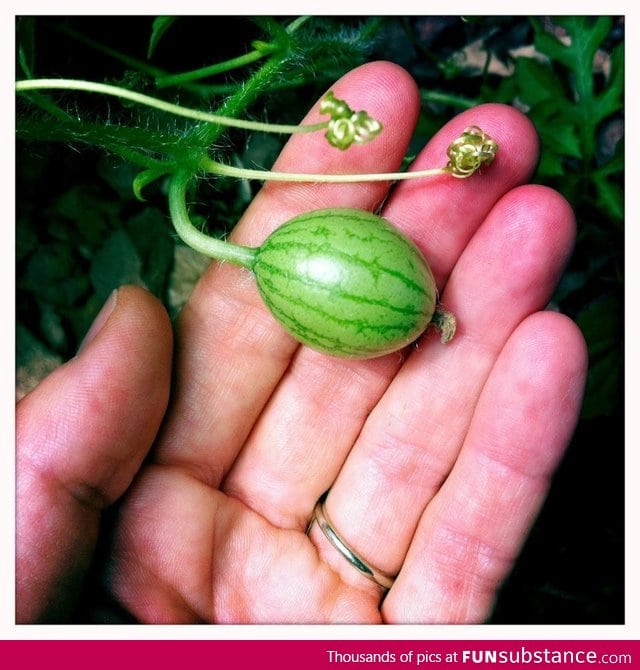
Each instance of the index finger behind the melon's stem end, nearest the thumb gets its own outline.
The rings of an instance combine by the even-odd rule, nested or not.
[[[354,109],[366,109],[386,132],[341,152],[319,134],[293,137],[275,169],[295,172],[393,170],[400,165],[417,116],[415,84],[404,70],[371,63],[332,87]],[[317,105],[307,122],[320,120]],[[269,184],[256,197],[233,238],[258,245],[292,216],[318,207],[374,208],[388,184]],[[297,344],[267,312],[246,272],[214,264],[196,287],[177,333],[171,420],[158,461],[188,467],[217,486],[289,365]]]

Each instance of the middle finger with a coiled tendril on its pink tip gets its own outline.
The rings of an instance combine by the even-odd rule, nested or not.
[[[430,143],[424,151],[427,158],[421,156],[419,162],[442,164],[444,148],[472,119],[487,128],[506,156],[497,159],[486,174],[471,179],[445,176],[421,181],[419,188],[398,190],[385,212],[421,246],[424,240],[430,246],[442,240],[442,252],[433,252],[442,276],[449,274],[495,202],[514,183],[525,180],[537,160],[536,135],[526,117],[504,105],[485,105],[447,124],[433,139],[437,151]],[[510,152],[516,144],[526,151]],[[465,206],[452,205],[452,190],[460,193],[455,202]],[[403,199],[408,203],[403,204]],[[448,229],[441,220],[449,222]],[[493,258],[487,261],[495,265]],[[301,349],[234,464],[225,490],[277,525],[304,528],[315,501],[336,478],[365,419],[401,364],[398,354],[348,361]]]

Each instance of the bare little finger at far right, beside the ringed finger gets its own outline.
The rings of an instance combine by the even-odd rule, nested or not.
[[[586,368],[582,335],[559,314],[511,336],[384,602],[387,621],[486,619],[575,427]]]

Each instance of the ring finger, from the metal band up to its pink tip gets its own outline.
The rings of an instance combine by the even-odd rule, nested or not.
[[[522,186],[504,196],[443,295],[458,318],[455,338],[447,346],[427,338],[371,413],[326,504],[356,552],[383,572],[400,569],[501,348],[546,305],[573,238],[573,214],[555,191]]]

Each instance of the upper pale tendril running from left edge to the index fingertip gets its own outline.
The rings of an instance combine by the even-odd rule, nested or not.
[[[257,130],[272,133],[310,133],[317,130],[323,130],[327,127],[327,122],[316,123],[311,125],[279,125],[274,123],[262,123],[260,121],[247,121],[244,119],[230,118],[226,114],[209,114],[198,109],[190,109],[180,105],[152,98],[144,93],[137,93],[130,91],[120,86],[112,86],[111,84],[101,84],[100,82],[84,81],[82,79],[26,79],[16,82],[16,90],[22,91],[38,91],[42,89],[64,89],[70,91],[86,91],[88,93],[101,93],[103,95],[111,95],[123,100],[153,107],[169,114],[176,116],[184,116],[188,119],[195,119],[196,121],[206,121],[214,123],[217,126],[228,126],[232,128],[242,128],[244,130]],[[246,87],[243,89],[243,97],[246,97]],[[234,96],[235,98],[235,96]],[[232,98],[232,99],[234,99]],[[225,105],[224,108],[232,107]],[[233,113],[235,110],[230,109]]]

